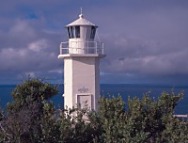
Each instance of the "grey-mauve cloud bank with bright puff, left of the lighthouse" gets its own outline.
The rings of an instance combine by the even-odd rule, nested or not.
[[[9,79],[10,75],[12,80],[19,80],[28,73],[44,77],[50,75],[49,71],[60,68],[57,60],[59,33],[46,33],[43,28],[38,30],[35,24],[37,22],[16,19],[12,21],[12,26],[0,31],[2,80]]]

